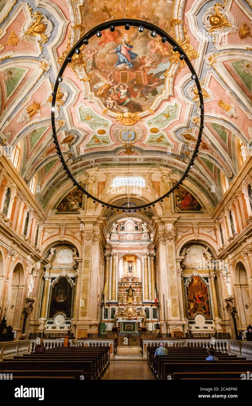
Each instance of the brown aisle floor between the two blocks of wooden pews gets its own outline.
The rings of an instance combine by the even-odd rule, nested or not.
[[[147,361],[114,361],[110,360],[108,367],[102,379],[120,379],[120,380],[155,380]]]

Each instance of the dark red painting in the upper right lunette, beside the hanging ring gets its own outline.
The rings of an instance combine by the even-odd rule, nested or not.
[[[178,190],[175,189],[174,206],[178,212],[183,213],[199,213],[202,209],[202,205],[199,203],[196,197],[181,185],[178,186]]]

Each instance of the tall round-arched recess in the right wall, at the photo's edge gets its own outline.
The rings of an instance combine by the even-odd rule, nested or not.
[[[235,302],[239,317],[238,328],[246,330],[252,320],[252,305],[248,274],[244,263],[240,260],[235,265],[234,280]]]

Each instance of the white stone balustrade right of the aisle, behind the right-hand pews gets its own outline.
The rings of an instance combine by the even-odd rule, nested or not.
[[[165,347],[200,347],[200,348],[209,348],[214,347],[218,352],[223,354],[229,353],[229,340],[228,339],[218,339],[212,337],[210,339],[163,339],[163,338],[154,338],[154,339],[140,339],[140,347],[143,358],[147,358],[147,347],[157,347],[159,343],[163,343]]]

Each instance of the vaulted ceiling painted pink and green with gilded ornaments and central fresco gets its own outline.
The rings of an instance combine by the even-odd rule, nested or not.
[[[125,10],[124,10],[125,4]],[[52,141],[51,92],[72,46],[90,28],[130,17],[152,22],[184,49],[201,81],[205,127],[186,180],[215,207],[239,169],[237,140],[252,138],[252,4],[246,0],[19,0],[0,3],[0,141],[21,146],[20,175],[36,175],[46,209],[70,185]],[[119,53],[124,47],[126,55]],[[199,97],[178,53],[148,31],[93,37],[57,93],[57,134],[72,173],[130,164],[184,172],[199,131]],[[105,170],[105,169],[104,169]],[[54,197],[57,189],[57,197]],[[71,210],[70,210],[71,211]]]

